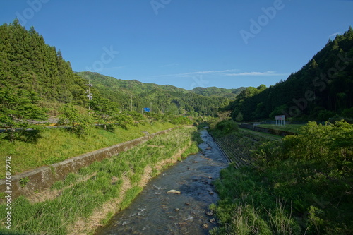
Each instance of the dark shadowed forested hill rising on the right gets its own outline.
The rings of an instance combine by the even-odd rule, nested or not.
[[[329,40],[297,73],[265,88],[246,88],[228,107],[233,119],[285,115],[297,121],[353,121],[353,30]]]

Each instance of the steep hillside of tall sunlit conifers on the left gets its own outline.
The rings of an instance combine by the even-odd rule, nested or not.
[[[70,62],[17,19],[0,26],[0,85],[34,91],[46,102],[88,102],[85,80],[73,73]]]

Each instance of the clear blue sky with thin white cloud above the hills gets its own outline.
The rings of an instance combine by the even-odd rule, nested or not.
[[[1,24],[33,25],[74,71],[187,90],[285,80],[352,12],[350,0],[0,1]]]

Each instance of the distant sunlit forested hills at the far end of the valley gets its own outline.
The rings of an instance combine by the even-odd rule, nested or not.
[[[232,94],[233,90],[228,89],[209,95],[199,95],[193,90],[188,91],[172,85],[141,83],[138,80],[121,80],[92,72],[79,72],[77,74],[87,82],[92,83],[93,99],[97,95],[101,95],[117,102],[123,110],[131,109],[132,97],[133,111],[139,112],[144,107],[152,107],[152,112],[215,116],[219,107],[225,107],[231,97],[237,96],[235,93],[229,95]],[[207,90],[207,88],[203,89]]]

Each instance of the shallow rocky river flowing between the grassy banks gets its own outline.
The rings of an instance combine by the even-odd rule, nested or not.
[[[217,202],[212,181],[227,160],[207,131],[201,131],[203,152],[191,155],[152,179],[126,210],[114,215],[103,234],[208,234],[217,226],[208,206]],[[170,190],[180,194],[167,193]],[[206,215],[206,213],[208,215]]]

